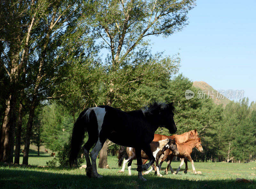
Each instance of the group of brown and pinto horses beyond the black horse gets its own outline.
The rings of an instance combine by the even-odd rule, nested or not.
[[[146,171],[144,174],[150,173],[153,169],[155,170],[155,174],[162,177],[163,175],[160,174],[159,170],[161,169],[161,165],[166,160],[167,161],[167,168],[165,169],[166,174],[168,174],[168,168],[170,167],[172,174],[178,174],[180,171],[180,167],[184,164],[186,164],[186,168],[184,173],[188,172],[188,160],[192,164],[193,172],[196,174],[196,169],[194,166],[194,161],[191,158],[191,153],[193,148],[196,147],[196,149],[200,152],[203,151],[201,138],[199,138],[198,133],[195,130],[183,133],[183,134],[174,134],[172,136],[165,136],[161,134],[155,134],[153,142],[150,143],[152,153],[154,157],[156,158],[156,168],[154,168],[154,164],[152,164],[152,167],[150,170]],[[158,147],[158,148],[157,148]],[[125,156],[125,149],[126,153],[128,155],[127,158],[124,158]],[[174,156],[178,156],[181,158],[181,163],[179,168],[176,170],[176,173],[172,170],[171,163]],[[143,161],[143,164],[145,164],[148,160],[147,155],[145,152],[141,150],[141,157],[145,160]],[[131,147],[123,147],[121,146],[118,151],[118,165],[122,166],[123,161],[123,167],[118,172],[124,172],[125,165],[128,163],[128,172],[129,175],[131,175],[131,165],[132,160],[136,158],[135,150]]]

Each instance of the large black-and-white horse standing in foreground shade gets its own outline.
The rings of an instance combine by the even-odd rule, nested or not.
[[[166,104],[153,101],[142,107],[140,110],[124,112],[107,105],[87,108],[77,118],[71,137],[69,151],[69,165],[75,164],[78,167],[78,153],[87,131],[88,141],[83,146],[86,159],[86,175],[88,177],[101,178],[96,166],[96,158],[104,142],[110,141],[131,148],[135,148],[137,158],[138,178],[142,177],[142,171],[155,162],[155,157],[150,148],[150,142],[154,139],[154,133],[158,127],[165,127],[170,133],[175,133],[177,127],[173,120],[173,103]],[[133,140],[131,140],[133,136]],[[91,160],[89,150],[91,151]],[[149,163],[142,165],[141,150],[149,157]]]

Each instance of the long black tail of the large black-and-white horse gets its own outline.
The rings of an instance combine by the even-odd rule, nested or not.
[[[87,110],[88,109],[80,113],[73,127],[72,137],[70,142],[70,150],[69,150],[69,166],[70,167],[73,164],[75,164],[76,167],[78,167],[78,164],[79,164],[78,153],[84,142],[84,134],[85,132],[87,132],[86,120],[88,119],[87,118],[88,116],[85,115],[87,113],[86,112]]]

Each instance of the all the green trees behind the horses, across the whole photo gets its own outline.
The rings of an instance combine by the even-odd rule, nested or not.
[[[179,134],[197,129],[205,152],[193,153],[196,160],[254,160],[255,104],[243,99],[223,108],[212,99],[186,100],[185,91],[197,89],[185,76],[174,77],[179,55],[150,51],[148,36],[182,30],[194,6],[194,0],[4,1],[0,161],[13,162],[14,154],[20,163],[24,144],[22,164],[28,164],[31,142],[38,151],[42,144],[54,151],[68,148],[72,125],[87,107],[130,111],[152,99],[174,102]],[[163,128],[157,133],[168,134]],[[104,144],[100,167],[116,149]]]

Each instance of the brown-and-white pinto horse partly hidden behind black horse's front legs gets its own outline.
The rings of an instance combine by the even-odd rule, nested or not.
[[[121,146],[118,151],[118,165],[119,166],[122,165],[122,161],[124,159],[124,154],[125,154],[124,148],[125,147]],[[150,148],[151,148],[153,156],[156,158],[157,162],[158,162],[159,157],[164,153],[164,151],[166,149],[169,149],[170,151],[174,152],[176,155],[179,154],[179,151],[178,151],[176,143],[175,143],[175,139],[174,140],[164,139],[164,140],[161,140],[158,142],[151,142]],[[123,167],[118,172],[124,172],[125,165],[129,162],[128,163],[128,172],[129,172],[129,175],[131,175],[132,160],[136,159],[135,149],[131,148],[131,147],[126,147],[126,153],[128,155],[128,158],[124,159]],[[141,150],[141,157],[143,159],[148,159],[148,156],[146,155],[146,153],[143,150]]]

